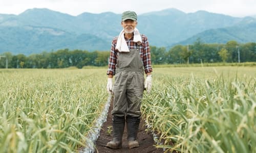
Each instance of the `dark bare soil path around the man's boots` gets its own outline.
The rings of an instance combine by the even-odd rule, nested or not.
[[[139,142],[139,147],[137,148],[132,148],[129,149],[128,144],[127,144],[127,132],[126,132],[126,126],[124,127],[124,133],[123,133],[123,139],[122,139],[122,148],[121,149],[110,149],[106,147],[106,143],[112,140],[112,134],[108,134],[108,127],[112,126],[112,115],[111,111],[113,108],[113,99],[110,104],[110,109],[108,112],[108,117],[106,118],[106,122],[103,123],[102,129],[100,130],[100,135],[96,141],[96,149],[95,153],[99,152],[132,152],[132,153],[137,153],[137,152],[164,152],[162,148],[156,148],[153,135],[151,132],[146,132],[146,127],[143,126],[143,120],[141,119],[140,121],[140,126],[139,126],[139,132],[137,136],[137,140]]]

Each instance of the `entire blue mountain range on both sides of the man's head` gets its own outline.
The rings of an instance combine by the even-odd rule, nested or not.
[[[72,16],[49,9],[29,9],[19,15],[0,14],[0,54],[30,55],[69,48],[109,50],[122,27],[121,14],[104,12]],[[256,18],[232,17],[197,11],[184,13],[171,8],[138,15],[140,33],[157,47],[205,43],[256,41]]]

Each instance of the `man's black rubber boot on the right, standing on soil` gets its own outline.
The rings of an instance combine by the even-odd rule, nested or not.
[[[138,147],[137,133],[140,124],[140,117],[126,116],[127,140],[129,148]]]

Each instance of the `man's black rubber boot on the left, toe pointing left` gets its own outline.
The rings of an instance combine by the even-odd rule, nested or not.
[[[113,140],[106,144],[112,149],[119,149],[122,147],[122,137],[125,120],[124,117],[113,116]]]

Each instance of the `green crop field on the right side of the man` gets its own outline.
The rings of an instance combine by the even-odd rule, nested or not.
[[[255,152],[256,67],[156,68],[142,111],[166,151]]]

